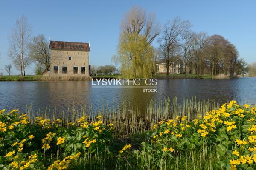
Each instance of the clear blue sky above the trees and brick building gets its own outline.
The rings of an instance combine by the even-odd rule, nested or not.
[[[23,14],[33,27],[33,35],[44,34],[47,39],[59,41],[90,41],[90,65],[111,64],[123,13],[133,5],[154,11],[160,24],[176,16],[190,20],[193,31],[220,34],[236,45],[246,62],[256,62],[254,0],[1,0],[0,71],[7,74],[4,65],[11,63],[7,37]],[[26,72],[33,74],[33,70],[31,65]],[[18,74],[16,68],[12,74]]]

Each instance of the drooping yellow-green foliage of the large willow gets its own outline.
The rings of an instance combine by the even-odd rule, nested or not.
[[[155,72],[154,50],[144,35],[120,35],[117,60],[126,78],[147,78]]]

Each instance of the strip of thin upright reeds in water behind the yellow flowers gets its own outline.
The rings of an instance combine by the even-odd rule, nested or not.
[[[34,122],[35,117],[44,119],[61,119],[65,125],[69,122],[77,123],[82,116],[88,116],[89,120],[94,121],[96,116],[103,115],[103,124],[115,125],[114,136],[125,138],[136,133],[143,133],[152,129],[153,125],[160,120],[174,119],[176,116],[187,116],[189,121],[196,119],[198,115],[204,116],[207,111],[218,109],[219,104],[213,100],[198,100],[196,97],[183,99],[179,103],[177,97],[174,99],[150,100],[145,106],[145,111],[139,108],[133,108],[131,105],[122,102],[121,105],[109,106],[102,104],[102,108],[93,110],[93,107],[67,108],[67,110],[58,112],[56,107],[46,107],[44,111],[33,111],[32,107],[26,108],[29,120]]]

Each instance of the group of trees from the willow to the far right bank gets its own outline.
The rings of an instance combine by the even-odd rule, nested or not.
[[[151,77],[157,73],[156,61],[163,60],[167,75],[177,60],[183,61],[183,74],[199,75],[245,74],[246,63],[239,58],[235,45],[221,35],[192,31],[189,20],[175,17],[163,26],[154,13],[132,7],[124,14],[117,54],[113,61],[120,64],[126,77]],[[157,47],[152,41],[157,40]]]

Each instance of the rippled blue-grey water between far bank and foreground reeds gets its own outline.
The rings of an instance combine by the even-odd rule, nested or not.
[[[223,103],[237,100],[240,103],[256,102],[256,78],[237,79],[170,79],[157,80],[156,93],[143,93],[143,88],[93,88],[92,81],[67,82],[0,82],[0,109],[33,109],[55,106],[63,110],[68,107],[119,105],[123,101],[134,108],[145,108],[151,99],[183,98],[215,99]]]

